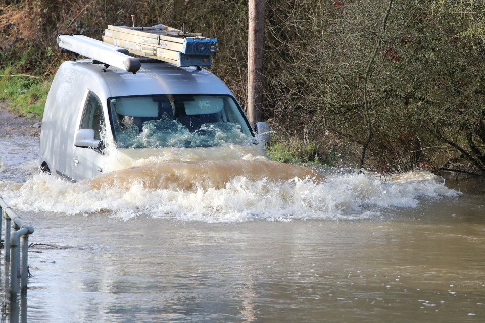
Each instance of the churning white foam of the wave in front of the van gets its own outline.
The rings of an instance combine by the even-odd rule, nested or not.
[[[319,184],[294,178],[287,182],[236,177],[220,189],[100,190],[53,176],[34,175],[23,184],[4,182],[0,194],[18,210],[68,215],[104,212],[124,220],[136,216],[183,221],[244,222],[293,219],[354,220],[379,216],[390,207],[417,207],[424,197],[456,196],[428,172],[407,173],[394,181],[369,175],[333,175]]]

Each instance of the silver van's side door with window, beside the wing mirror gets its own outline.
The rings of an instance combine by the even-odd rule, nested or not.
[[[88,93],[78,129],[93,129],[95,140],[101,140],[102,133],[106,131],[103,106],[98,96],[91,91]],[[73,146],[72,159],[72,174],[76,181],[86,178],[94,178],[101,175],[103,172],[103,152],[101,150],[90,147]]]

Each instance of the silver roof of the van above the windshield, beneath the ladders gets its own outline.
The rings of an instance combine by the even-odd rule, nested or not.
[[[67,63],[67,62],[65,62]],[[64,64],[65,64],[64,63]],[[195,67],[177,67],[163,62],[143,62],[136,74],[116,67],[103,72],[92,60],[70,61],[106,84],[107,97],[154,94],[222,94],[232,95],[229,88],[213,73]],[[74,67],[73,66],[73,67]],[[92,80],[95,84],[96,80]]]

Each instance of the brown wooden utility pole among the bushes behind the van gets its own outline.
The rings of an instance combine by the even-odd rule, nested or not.
[[[248,117],[253,125],[263,115],[264,2],[249,0]]]

